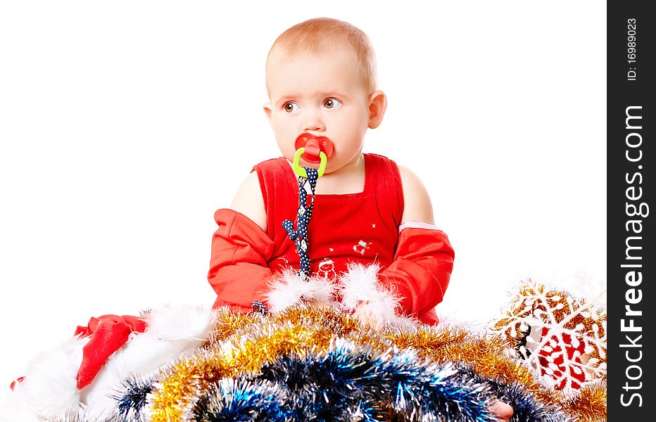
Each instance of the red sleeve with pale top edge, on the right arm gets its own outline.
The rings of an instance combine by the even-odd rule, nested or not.
[[[394,259],[379,280],[398,295],[403,314],[423,320],[444,297],[454,257],[443,231],[411,226],[398,234]]]

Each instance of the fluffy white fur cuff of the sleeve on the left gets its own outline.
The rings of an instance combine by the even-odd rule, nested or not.
[[[311,276],[305,280],[293,269],[286,269],[279,279],[269,286],[265,300],[271,312],[280,312],[286,307],[313,303],[332,305],[335,302],[336,287],[329,279]]]

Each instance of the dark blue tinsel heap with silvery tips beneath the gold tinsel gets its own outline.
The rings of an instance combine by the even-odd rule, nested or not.
[[[253,393],[262,381],[268,382],[268,392],[276,393],[266,402]],[[271,411],[279,419],[267,420],[281,421],[495,420],[487,409],[487,385],[459,378],[450,364],[425,364],[410,351],[378,354],[345,340],[337,340],[326,353],[281,356],[251,380],[235,385],[240,390],[238,408],[251,417],[233,419],[239,421],[261,420],[253,418],[260,409],[275,409]],[[227,420],[222,412],[234,408],[235,393],[217,385],[209,396],[220,412],[206,407],[208,395],[203,395],[195,418]]]

